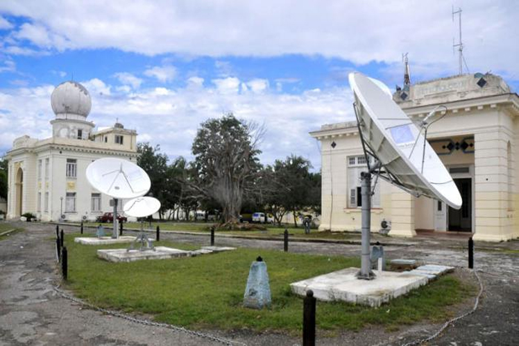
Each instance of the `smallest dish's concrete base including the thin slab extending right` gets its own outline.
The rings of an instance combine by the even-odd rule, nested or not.
[[[153,250],[140,251],[139,249],[130,250],[127,249],[110,249],[110,250],[97,250],[97,256],[103,258],[109,262],[133,262],[145,259],[169,259],[178,257],[194,257],[205,254],[213,254],[216,252],[231,251],[235,250],[235,247],[203,247],[195,251],[184,251],[179,249],[173,249],[172,247],[155,247]]]

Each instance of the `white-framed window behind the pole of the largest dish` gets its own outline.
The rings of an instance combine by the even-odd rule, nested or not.
[[[372,161],[371,157],[368,159],[370,160],[370,162]],[[348,208],[359,208],[360,206],[362,206],[360,174],[361,172],[366,171],[367,168],[368,166],[366,165],[366,158],[364,156],[348,157]],[[375,192],[371,197],[371,206],[373,208],[380,208],[380,179],[375,179],[375,176],[372,175],[372,190],[375,180],[377,180],[377,185],[375,186]]]

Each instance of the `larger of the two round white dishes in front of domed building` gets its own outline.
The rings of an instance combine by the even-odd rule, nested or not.
[[[151,187],[141,167],[120,158],[100,158],[90,163],[87,180],[96,190],[116,199],[142,196]]]

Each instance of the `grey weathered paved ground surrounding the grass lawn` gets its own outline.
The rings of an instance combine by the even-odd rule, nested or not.
[[[214,345],[209,338],[161,327],[145,327],[121,318],[103,315],[60,297],[54,258],[55,227],[49,224],[19,224],[26,231],[0,240],[0,346],[1,345]],[[67,231],[67,229],[65,229]],[[77,231],[77,229],[70,229]],[[207,235],[162,233],[162,238],[204,243]],[[398,243],[402,243],[400,240]],[[413,239],[410,246],[385,248],[389,258],[417,258],[427,263],[466,266],[466,240],[427,237]],[[281,242],[216,238],[216,245],[282,249]],[[479,309],[457,322],[429,345],[519,345],[519,255],[502,249],[519,249],[519,242],[477,244],[475,264],[485,291]],[[291,252],[358,256],[359,245],[291,242]],[[473,274],[458,270],[468,279]],[[469,302],[468,302],[469,303]],[[470,304],[460,307],[468,309]],[[318,318],[318,317],[317,317]],[[386,333],[380,328],[346,332],[334,338],[318,333],[318,345],[401,345],[434,332],[439,326],[416,324]],[[297,345],[300,338],[249,331],[220,333],[219,338],[246,345]]]

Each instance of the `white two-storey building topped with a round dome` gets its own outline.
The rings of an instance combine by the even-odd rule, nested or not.
[[[95,220],[111,211],[110,197],[88,183],[87,165],[97,158],[137,160],[137,133],[122,124],[94,131],[87,121],[92,101],[74,81],[58,85],[51,96],[56,118],[52,137],[17,138],[7,152],[8,218],[33,213],[44,221]]]

